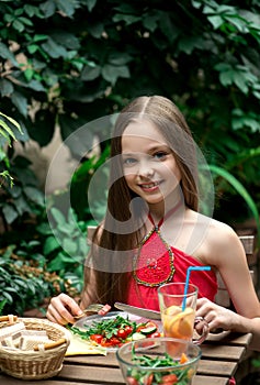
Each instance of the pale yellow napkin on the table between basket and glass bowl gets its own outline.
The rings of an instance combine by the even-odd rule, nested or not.
[[[71,355],[87,355],[101,354],[106,355],[106,349],[103,346],[95,346],[93,343],[82,340],[80,337],[70,333],[70,344],[65,353],[65,356]]]

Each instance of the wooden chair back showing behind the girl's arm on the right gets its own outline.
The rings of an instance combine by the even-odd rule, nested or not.
[[[252,282],[256,286],[256,280],[257,280],[257,258],[255,255],[255,235],[240,235],[239,240],[242,243],[242,246],[245,249],[245,253],[247,256],[247,262],[248,262],[248,268],[251,274]],[[218,305],[222,305],[224,307],[231,307],[231,301],[228,295],[228,292],[226,289],[226,286],[219,275],[217,273],[217,294],[215,297],[215,302]]]

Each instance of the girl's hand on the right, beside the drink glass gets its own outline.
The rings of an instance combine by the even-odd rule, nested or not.
[[[196,316],[203,317],[207,321],[210,331],[216,329],[233,330],[237,329],[240,323],[240,316],[236,312],[216,305],[206,298],[197,299]]]

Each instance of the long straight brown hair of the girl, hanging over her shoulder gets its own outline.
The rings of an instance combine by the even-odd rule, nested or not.
[[[184,117],[177,106],[160,96],[138,97],[120,113],[111,140],[110,188],[104,222],[93,235],[88,265],[95,275],[93,294],[90,270],[86,267],[84,289],[93,301],[113,305],[127,298],[128,272],[133,250],[140,241],[146,202],[128,188],[123,176],[121,154],[122,134],[133,120],[148,119],[160,131],[171,147],[181,173],[181,188],[186,207],[197,210],[197,165],[195,144]],[[127,232],[122,226],[127,222]]]

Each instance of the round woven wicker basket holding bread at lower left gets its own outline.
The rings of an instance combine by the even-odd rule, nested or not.
[[[45,330],[48,339],[54,343],[39,351],[15,351],[0,346],[0,370],[21,380],[42,380],[58,374],[69,345],[68,331],[46,319],[18,318],[18,321],[22,321],[26,330]],[[8,324],[10,324],[9,321],[2,321],[0,328]]]

